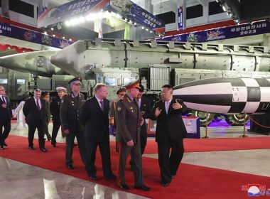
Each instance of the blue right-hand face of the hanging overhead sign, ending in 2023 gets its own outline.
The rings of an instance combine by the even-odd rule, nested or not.
[[[163,21],[129,0],[111,0],[110,9],[151,30],[165,27]]]

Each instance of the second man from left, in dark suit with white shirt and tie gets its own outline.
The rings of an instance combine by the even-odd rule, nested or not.
[[[34,150],[33,137],[36,129],[38,129],[38,144],[42,152],[46,152],[44,141],[44,125],[45,125],[45,100],[41,99],[41,90],[34,91],[34,97],[26,100],[23,106],[23,114],[26,116],[28,124],[28,148]]]

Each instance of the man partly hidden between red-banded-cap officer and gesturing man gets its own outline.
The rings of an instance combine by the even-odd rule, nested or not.
[[[146,126],[146,120],[150,117],[151,114],[151,103],[150,101],[142,97],[144,95],[144,86],[140,85],[139,94],[137,97],[138,105],[141,110],[141,115],[144,118],[144,124],[141,126],[141,155],[144,154],[144,149],[146,148],[146,142],[147,142],[147,126]]]

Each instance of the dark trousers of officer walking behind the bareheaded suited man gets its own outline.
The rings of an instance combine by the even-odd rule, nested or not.
[[[82,162],[85,164],[85,135],[83,131],[70,131],[69,134],[66,135],[65,138],[65,164],[68,165],[70,163],[73,163],[72,161],[72,153],[73,153],[73,147],[74,147],[74,139],[75,136],[77,138],[77,143],[79,146],[80,151],[80,158],[82,158]]]

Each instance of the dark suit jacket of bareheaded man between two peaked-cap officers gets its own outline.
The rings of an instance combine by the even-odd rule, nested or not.
[[[85,126],[87,141],[101,142],[104,139],[109,141],[109,100],[103,99],[104,112],[97,102],[97,98],[87,99],[82,106],[80,122]]]

